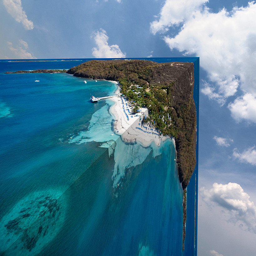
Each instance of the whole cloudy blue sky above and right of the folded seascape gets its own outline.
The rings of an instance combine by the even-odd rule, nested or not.
[[[198,255],[256,251],[256,3],[0,0],[0,59],[200,57]]]

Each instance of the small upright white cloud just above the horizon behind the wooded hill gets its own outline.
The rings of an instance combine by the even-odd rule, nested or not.
[[[117,44],[109,45],[107,32],[100,28],[94,33],[94,40],[97,47],[92,49],[95,58],[125,58],[125,53],[119,49]]]

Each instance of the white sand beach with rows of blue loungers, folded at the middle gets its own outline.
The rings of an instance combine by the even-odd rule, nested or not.
[[[160,145],[161,141],[170,138],[169,136],[161,136],[154,126],[141,123],[144,117],[148,115],[146,108],[141,108],[140,112],[132,114],[134,106],[126,97],[120,95],[120,87],[115,93],[117,96],[110,98],[110,100],[115,101],[110,111],[115,116],[114,131],[122,136],[123,141],[140,141],[143,145],[148,146],[152,141],[156,145]]]

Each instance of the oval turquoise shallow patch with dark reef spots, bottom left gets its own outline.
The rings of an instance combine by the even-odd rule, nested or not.
[[[23,197],[0,222],[1,253],[36,255],[63,226],[67,199],[49,189]]]

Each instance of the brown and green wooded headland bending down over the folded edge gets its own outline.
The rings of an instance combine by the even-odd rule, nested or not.
[[[147,121],[155,121],[164,135],[175,137],[179,179],[188,185],[196,165],[196,107],[193,63],[148,60],[91,60],[67,71],[74,76],[119,81],[122,93],[145,105]],[[143,89],[141,98],[131,90]]]

